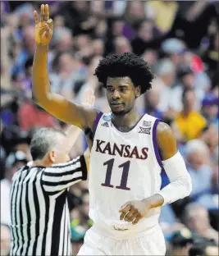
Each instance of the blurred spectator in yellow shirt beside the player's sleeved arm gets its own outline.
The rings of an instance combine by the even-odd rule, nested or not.
[[[176,116],[175,124],[180,131],[180,141],[196,139],[207,125],[202,115],[194,110],[194,89],[185,89],[182,95],[183,110]]]

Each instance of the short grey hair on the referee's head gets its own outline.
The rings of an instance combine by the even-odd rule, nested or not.
[[[34,130],[34,135],[30,142],[30,153],[33,161],[43,159],[48,151],[56,146],[57,134],[66,136],[62,130],[50,127]]]

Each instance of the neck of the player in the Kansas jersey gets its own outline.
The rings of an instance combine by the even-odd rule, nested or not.
[[[112,113],[112,122],[118,130],[129,131],[136,125],[140,117],[141,115],[134,107],[130,112],[123,116],[115,115]]]

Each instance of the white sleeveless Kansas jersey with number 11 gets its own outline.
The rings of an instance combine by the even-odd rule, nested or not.
[[[119,213],[127,201],[142,200],[160,191],[157,123],[157,118],[145,114],[132,130],[121,132],[113,126],[111,114],[100,117],[89,171],[89,217],[98,226],[139,232],[158,224],[160,208],[150,210],[136,225],[120,221]]]

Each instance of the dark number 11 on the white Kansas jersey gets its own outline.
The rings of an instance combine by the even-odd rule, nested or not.
[[[110,184],[114,161],[115,161],[115,159],[112,158],[112,159],[108,160],[107,162],[103,163],[103,166],[107,166],[106,179],[105,179],[105,182],[101,184],[103,186],[107,186],[107,187],[110,187],[110,188],[114,187],[113,185]],[[130,190],[130,188],[127,187],[128,175],[129,175],[129,171],[130,171],[130,161],[123,162],[119,166],[119,168],[122,168],[121,184],[116,185],[116,189]]]

